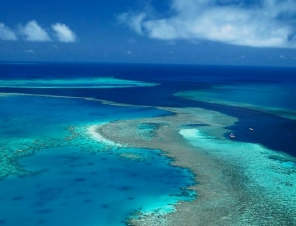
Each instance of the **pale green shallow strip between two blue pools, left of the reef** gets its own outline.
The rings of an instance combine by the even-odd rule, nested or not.
[[[59,138],[43,138],[15,140],[0,140],[0,179],[7,176],[29,176],[35,174],[19,164],[19,159],[35,155],[37,152],[48,148],[79,147],[82,151],[97,152],[102,151],[102,145],[87,135],[88,126],[69,126],[65,129],[65,134]],[[5,143],[5,145],[4,145]]]

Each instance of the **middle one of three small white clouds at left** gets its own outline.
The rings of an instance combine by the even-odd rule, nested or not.
[[[28,22],[25,26],[20,26],[19,32],[26,41],[46,42],[51,41],[47,32],[35,21]]]

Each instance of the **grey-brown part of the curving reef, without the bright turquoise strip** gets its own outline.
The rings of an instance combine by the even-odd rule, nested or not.
[[[125,147],[162,150],[175,160],[173,165],[195,174],[196,185],[187,189],[196,191],[197,198],[177,203],[176,211],[166,215],[139,214],[130,218],[129,225],[296,225],[295,201],[271,198],[272,194],[255,183],[239,161],[226,161],[194,147],[180,134],[181,129],[196,125],[209,139],[231,142],[223,136],[228,132],[224,128],[235,123],[236,118],[200,108],[160,109],[175,115],[111,122],[96,132]],[[141,125],[153,125],[154,129],[141,129]],[[290,173],[295,176],[296,171]],[[273,181],[270,186],[274,186]],[[287,186],[288,191],[296,190],[294,184]]]

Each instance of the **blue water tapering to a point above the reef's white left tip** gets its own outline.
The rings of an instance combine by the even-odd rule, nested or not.
[[[153,108],[120,107],[96,101],[38,96],[4,96],[0,101],[0,147],[16,151],[36,141],[69,143],[70,129],[111,120],[168,114]],[[82,137],[83,138],[83,137]],[[72,141],[74,141],[72,139]],[[50,146],[50,145],[49,145]]]

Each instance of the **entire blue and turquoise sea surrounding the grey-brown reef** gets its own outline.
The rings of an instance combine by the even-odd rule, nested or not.
[[[198,198],[185,189],[194,174],[161,150],[96,134],[108,122],[172,115],[157,107],[235,117],[227,143],[209,143],[202,124],[180,134],[199,148],[231,150],[231,158],[284,153],[269,159],[296,171],[295,90],[296,68],[1,63],[0,225],[124,225]]]

